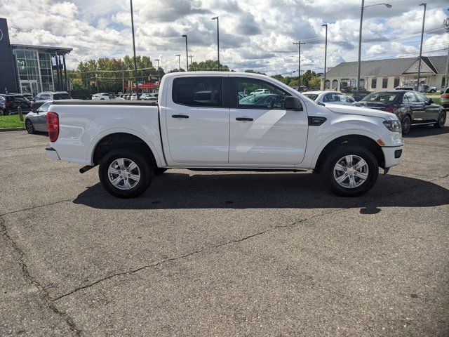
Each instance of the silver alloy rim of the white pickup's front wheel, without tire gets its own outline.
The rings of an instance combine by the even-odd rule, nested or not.
[[[368,164],[362,157],[348,154],[334,166],[334,179],[344,188],[356,188],[368,179]]]

